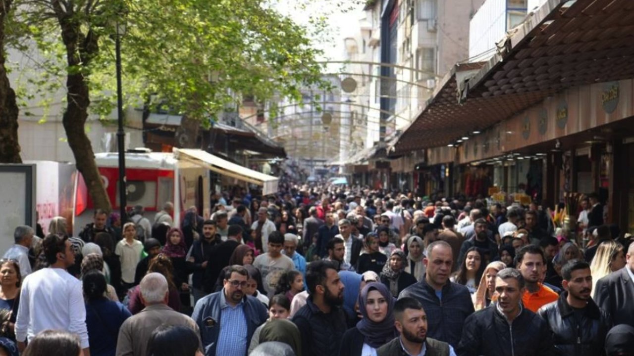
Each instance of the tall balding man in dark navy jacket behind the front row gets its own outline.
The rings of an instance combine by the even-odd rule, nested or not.
[[[429,336],[457,346],[465,319],[474,312],[469,289],[449,281],[453,252],[446,241],[430,243],[425,255],[425,277],[401,291],[399,299],[417,299],[427,314]]]

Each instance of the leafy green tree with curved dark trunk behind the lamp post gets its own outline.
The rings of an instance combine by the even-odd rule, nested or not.
[[[62,122],[98,208],[108,209],[110,202],[84,126],[90,113],[105,117],[116,102],[111,35],[117,22],[127,28],[122,58],[128,104],[153,98],[150,105],[169,103],[209,125],[238,94],[299,101],[301,87],[323,85],[319,53],[306,28],[268,1],[30,0],[19,16],[37,47],[52,54],[47,72],[61,69],[67,77]]]

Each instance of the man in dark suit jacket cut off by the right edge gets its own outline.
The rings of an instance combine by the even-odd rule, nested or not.
[[[612,317],[612,324],[634,326],[634,243],[625,258],[625,267],[597,281],[595,298],[597,305]]]

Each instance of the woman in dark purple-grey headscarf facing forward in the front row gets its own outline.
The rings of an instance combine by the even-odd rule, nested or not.
[[[359,293],[363,318],[341,340],[340,356],[370,355],[397,336],[394,329],[394,298],[384,284],[366,284]]]

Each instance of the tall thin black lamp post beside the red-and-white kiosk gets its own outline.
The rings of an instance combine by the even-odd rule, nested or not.
[[[117,29],[118,30],[118,29]],[[115,35],[115,53],[117,61],[117,116],[119,129],[117,130],[117,146],[119,150],[119,209],[121,214],[121,224],[127,222],[126,213],[126,134],[123,130],[123,91],[121,89],[121,41],[120,34]]]

